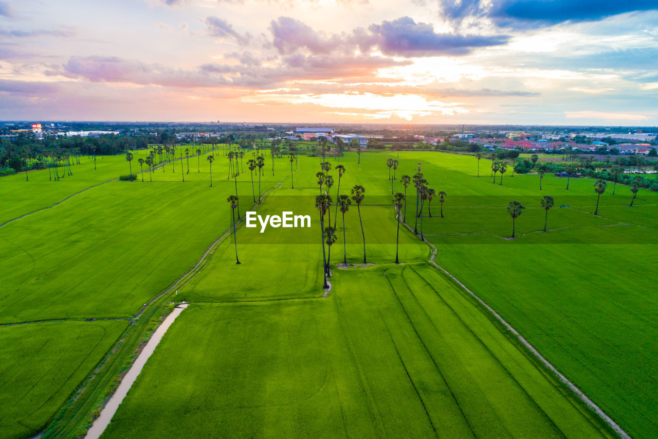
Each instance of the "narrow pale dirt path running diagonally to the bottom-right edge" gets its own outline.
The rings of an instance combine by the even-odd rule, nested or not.
[[[403,222],[403,224],[407,227],[407,229],[409,229],[409,231],[411,231],[411,233],[413,233],[413,229],[411,228],[411,226],[409,224],[404,223],[404,222]],[[563,384],[565,384],[576,395],[576,397],[578,397],[578,399],[580,399],[580,401],[582,401],[585,405],[587,405],[590,409],[592,409],[592,411],[594,411],[594,413],[596,413],[599,416],[599,418],[601,418],[603,420],[603,422],[605,422],[613,430],[615,430],[615,432],[617,434],[619,434],[619,436],[621,438],[632,439],[631,436],[628,433],[626,433],[623,428],[621,428],[619,426],[619,424],[615,423],[615,421],[613,421],[613,419],[611,417],[609,417],[605,413],[605,411],[603,411],[601,409],[601,407],[596,405],[596,403],[594,403],[594,401],[592,401],[592,399],[590,399],[586,394],[584,394],[584,392],[582,392],[582,390],[580,390],[575,384],[573,384],[569,380],[569,378],[564,376],[559,370],[557,370],[557,368],[555,366],[553,366],[547,359],[545,359],[544,356],[542,354],[540,354],[539,351],[532,344],[530,344],[530,342],[528,340],[526,340],[525,337],[523,337],[519,333],[519,331],[515,330],[515,328],[513,328],[513,326],[511,326],[511,324],[507,323],[507,321],[505,321],[505,319],[500,314],[495,312],[495,310],[492,307],[490,307],[488,305],[488,303],[486,303],[485,301],[480,299],[480,297],[478,295],[476,295],[473,291],[468,289],[468,287],[466,285],[464,285],[463,283],[461,283],[461,281],[459,281],[459,279],[455,278],[455,276],[453,276],[450,272],[445,270],[445,268],[443,268],[442,266],[437,264],[436,263],[436,254],[438,252],[438,249],[436,248],[436,246],[434,244],[430,243],[430,241],[427,241],[425,239],[423,241],[424,241],[424,243],[426,243],[427,245],[429,245],[432,248],[432,256],[430,256],[430,260],[428,261],[430,264],[432,264],[433,266],[435,266],[436,268],[441,270],[446,276],[451,278],[453,281],[455,281],[455,283],[457,283],[457,285],[459,285],[462,289],[464,289],[464,291],[467,291],[467,293],[470,294],[472,296],[472,298],[475,299],[478,303],[480,303],[480,305],[482,305],[482,307],[486,308],[486,310],[488,310],[496,318],[496,320],[500,324],[505,326],[505,328],[507,328],[507,330],[509,330],[509,332],[511,332],[512,334],[515,335],[515,337],[517,337],[517,339],[520,341],[520,343],[522,343],[522,345],[524,345],[524,347],[526,347],[526,349],[528,349],[528,351],[530,351],[530,353],[532,353],[532,355],[534,355],[534,357],[536,359],[538,359],[546,368],[548,368],[551,372],[553,372],[553,374]]]

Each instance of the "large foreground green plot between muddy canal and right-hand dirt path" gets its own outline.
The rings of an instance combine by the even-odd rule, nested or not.
[[[605,436],[432,268],[334,279],[326,298],[191,305],[103,437]]]

